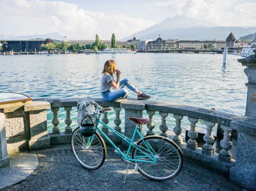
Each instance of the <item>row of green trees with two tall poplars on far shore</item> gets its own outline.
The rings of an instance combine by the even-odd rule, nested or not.
[[[63,41],[63,42],[54,42],[52,39],[50,38],[47,38],[44,42],[44,44],[41,44],[41,47],[40,49],[41,50],[52,50],[52,49],[55,49],[55,48],[59,48],[59,49],[68,49],[68,50],[71,50],[71,51],[79,51],[79,50],[82,50],[82,49],[93,49],[94,51],[97,51],[97,50],[102,50],[102,49],[105,49],[107,48],[108,45],[102,41],[99,40],[99,36],[98,34],[96,34],[95,36],[95,42],[93,42],[92,44],[86,44],[86,45],[81,45],[80,43],[75,43],[75,44],[68,44],[67,42]],[[131,45],[116,45],[116,40],[115,40],[115,34],[112,33],[112,36],[111,36],[111,44],[110,44],[110,47],[112,48],[120,48],[120,47],[123,47],[123,48],[128,48],[128,49],[133,49],[135,50],[135,45],[134,44],[131,44]]]

